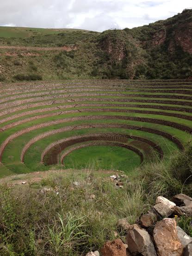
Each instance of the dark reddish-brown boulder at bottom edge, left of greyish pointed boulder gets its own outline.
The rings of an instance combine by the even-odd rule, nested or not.
[[[126,256],[126,247],[121,239],[107,242],[101,249],[102,256]]]

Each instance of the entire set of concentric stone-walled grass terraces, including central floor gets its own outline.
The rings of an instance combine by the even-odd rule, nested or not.
[[[192,81],[0,85],[0,176],[122,169],[169,157],[192,136]]]

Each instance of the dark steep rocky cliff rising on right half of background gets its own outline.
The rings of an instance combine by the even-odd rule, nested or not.
[[[138,28],[104,31],[99,49],[108,56],[103,66],[113,78],[190,77],[192,10]]]

